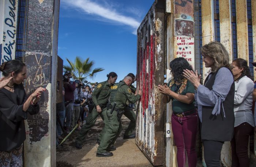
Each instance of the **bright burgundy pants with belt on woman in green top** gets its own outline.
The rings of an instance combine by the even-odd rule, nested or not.
[[[196,133],[198,116],[193,113],[188,116],[178,117],[172,115],[172,131],[174,142],[177,146],[178,167],[185,167],[186,154],[188,156],[188,166],[195,167],[197,162],[196,155]]]

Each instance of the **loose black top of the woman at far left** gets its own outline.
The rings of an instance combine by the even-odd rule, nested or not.
[[[30,105],[27,112],[23,104],[27,96],[22,84],[14,85],[14,93],[0,89],[0,151],[10,151],[19,147],[26,139],[24,120],[27,114],[37,114],[39,105]]]

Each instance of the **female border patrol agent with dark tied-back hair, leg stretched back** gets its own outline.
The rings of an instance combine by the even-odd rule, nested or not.
[[[82,148],[81,144],[84,142],[87,132],[94,126],[98,115],[101,116],[103,121],[106,119],[106,110],[104,109],[107,107],[107,102],[111,93],[110,87],[116,82],[117,74],[115,72],[110,72],[107,77],[108,80],[99,83],[91,95],[94,108],[91,113],[88,114],[86,123],[83,125],[76,138],[76,148],[78,149]]]

